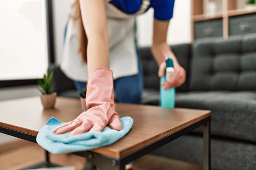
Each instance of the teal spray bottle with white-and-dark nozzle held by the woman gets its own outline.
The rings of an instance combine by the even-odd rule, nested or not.
[[[166,74],[160,78],[160,84],[162,82],[168,82],[169,77],[174,73],[173,60],[170,57],[166,57]],[[175,88],[169,88],[167,90],[163,89],[160,85],[160,106],[164,108],[174,108],[175,107]]]

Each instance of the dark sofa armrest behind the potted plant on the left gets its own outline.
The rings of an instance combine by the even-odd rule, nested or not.
[[[55,86],[55,91],[57,94],[60,94],[61,92],[76,89],[73,81],[69,79],[60,69],[59,65],[49,65],[49,68],[47,70],[48,74],[53,71],[54,76],[52,83]]]

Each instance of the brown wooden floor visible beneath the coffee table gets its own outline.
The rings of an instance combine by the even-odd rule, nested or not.
[[[44,150],[35,143],[24,142],[22,146],[0,150],[0,170],[17,170],[44,161]],[[85,159],[70,154],[51,155],[51,161],[62,166],[76,166],[82,170]],[[147,155],[134,162],[134,170],[202,170],[201,166],[183,161]]]

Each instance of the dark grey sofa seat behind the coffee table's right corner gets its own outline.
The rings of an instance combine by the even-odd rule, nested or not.
[[[159,91],[145,90],[143,104],[158,105]],[[256,142],[255,91],[177,92],[176,108],[212,111],[212,135]],[[199,132],[200,129],[195,130]]]

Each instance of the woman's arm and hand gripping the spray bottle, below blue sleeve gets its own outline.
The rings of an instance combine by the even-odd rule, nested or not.
[[[170,46],[166,42],[169,21],[159,21],[154,19],[153,43],[151,51],[154,59],[159,66],[158,76],[163,77],[165,74],[165,57],[172,57],[174,64],[174,74],[169,78],[169,82],[163,82],[163,88],[179,87],[185,82],[186,72],[177,61]]]

